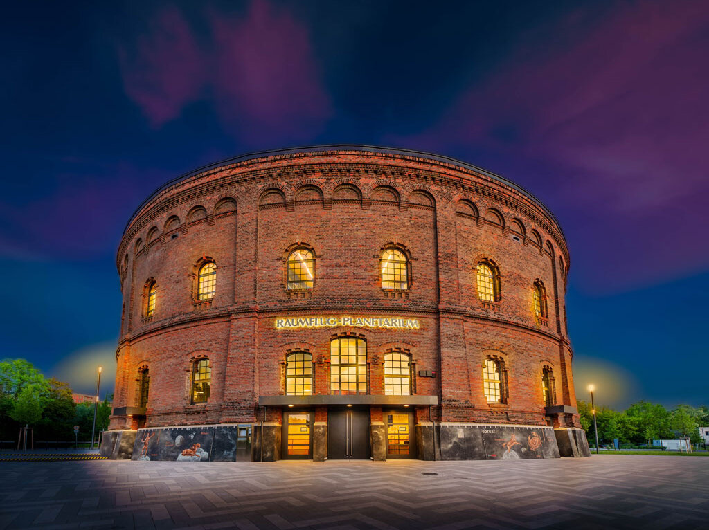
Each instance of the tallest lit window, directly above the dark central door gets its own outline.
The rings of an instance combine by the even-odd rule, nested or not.
[[[367,343],[363,339],[330,341],[330,389],[333,394],[367,392]]]

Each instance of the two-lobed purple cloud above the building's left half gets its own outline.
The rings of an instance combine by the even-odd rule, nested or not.
[[[211,12],[206,20],[203,48],[169,8],[132,57],[119,50],[125,92],[153,126],[209,95],[225,129],[246,144],[298,141],[323,129],[332,106],[301,22],[265,0],[252,1],[245,16]]]

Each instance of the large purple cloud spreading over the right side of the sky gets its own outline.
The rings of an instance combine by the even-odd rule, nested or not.
[[[709,266],[709,9],[596,11],[524,35],[432,128],[390,140],[516,159],[510,178],[569,218],[581,283],[607,292]]]

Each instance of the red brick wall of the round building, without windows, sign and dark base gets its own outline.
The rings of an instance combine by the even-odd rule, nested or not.
[[[315,255],[310,291],[286,289],[286,256]],[[408,256],[406,291],[381,288],[380,256]],[[196,274],[217,266],[216,294],[196,300]],[[500,300],[482,302],[481,260],[499,272]],[[111,429],[252,423],[259,396],[283,395],[289,351],[309,351],[313,393],[330,394],[330,339],[367,341],[367,393],[384,394],[386,351],[411,354],[416,395],[437,396],[417,418],[579,427],[566,334],[569,254],[549,211],[501,177],[440,157],[376,148],[303,149],[225,162],[156,192],[130,220],[118,249],[123,291],[113,406],[139,407],[140,371],[150,373],[145,415],[113,415]],[[147,286],[157,283],[145,317]],[[535,281],[546,318],[535,315]],[[285,317],[407,317],[418,329],[276,329]],[[208,358],[211,395],[191,405],[191,369]],[[488,403],[486,358],[503,365],[506,400]],[[549,415],[542,370],[553,373]],[[420,377],[432,371],[435,377]],[[571,412],[569,412],[571,411]],[[325,422],[323,407],[314,411]],[[268,422],[281,422],[269,408]],[[372,407],[381,422],[381,407]]]

